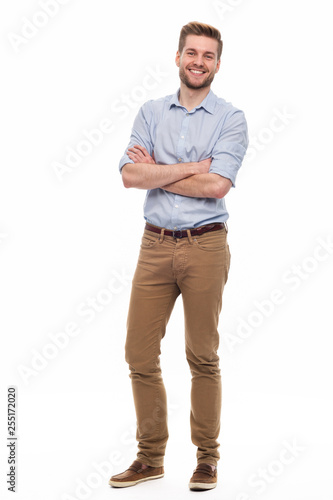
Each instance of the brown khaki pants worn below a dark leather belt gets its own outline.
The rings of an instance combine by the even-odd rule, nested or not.
[[[162,232],[163,233],[163,232]],[[164,465],[168,440],[160,346],[173,306],[182,294],[186,358],[192,375],[191,439],[197,462],[217,465],[221,375],[217,330],[228,279],[227,231],[175,239],[144,230],[127,319],[126,361],[137,416],[137,460]]]

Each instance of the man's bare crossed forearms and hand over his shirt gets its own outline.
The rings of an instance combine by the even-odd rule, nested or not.
[[[139,145],[127,152],[133,163],[122,168],[124,186],[139,189],[161,188],[195,198],[223,198],[232,186],[226,177],[209,173],[211,158],[199,162],[159,165],[154,154]]]

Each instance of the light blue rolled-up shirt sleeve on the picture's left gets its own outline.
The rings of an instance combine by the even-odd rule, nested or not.
[[[119,162],[119,171],[123,168],[126,163],[134,163],[133,160],[129,158],[126,154],[128,148],[131,148],[138,144],[146,148],[148,153],[151,155],[153,152],[153,143],[150,134],[150,122],[152,118],[150,101],[146,102],[139,110],[133,124],[130,142],[125,149],[124,155],[121,157]]]

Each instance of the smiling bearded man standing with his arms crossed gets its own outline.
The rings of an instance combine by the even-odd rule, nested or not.
[[[168,427],[159,355],[180,294],[192,374],[191,439],[197,447],[197,467],[189,487],[203,490],[217,484],[221,415],[217,327],[230,266],[224,197],[235,185],[248,145],[243,112],[210,89],[221,53],[217,29],[196,22],[183,26],[176,55],[180,89],[142,106],[120,161],[125,187],[148,191],[125,346],[138,453],[125,472],[110,479],[115,487],[164,475]]]

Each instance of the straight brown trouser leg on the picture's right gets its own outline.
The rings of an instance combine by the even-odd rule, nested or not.
[[[198,463],[212,465],[220,458],[222,387],[217,328],[229,267],[226,231],[206,233],[189,243],[186,272],[178,283],[184,303],[186,357],[192,374],[191,438],[197,446]]]

